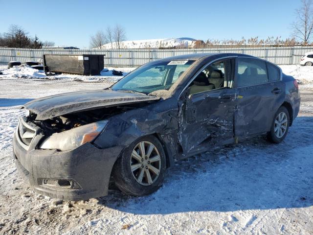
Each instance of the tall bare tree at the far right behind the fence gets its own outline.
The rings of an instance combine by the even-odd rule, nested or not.
[[[292,28],[293,36],[306,45],[313,36],[313,1],[301,0],[301,3],[302,6],[296,9],[297,20],[292,23]]]

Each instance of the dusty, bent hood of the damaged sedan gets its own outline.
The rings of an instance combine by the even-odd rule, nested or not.
[[[36,120],[45,120],[70,113],[159,99],[131,92],[89,90],[46,96],[24,104],[23,108],[37,114]]]

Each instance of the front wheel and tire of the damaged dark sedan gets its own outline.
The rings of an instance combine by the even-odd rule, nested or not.
[[[144,156],[149,155],[148,149],[153,145],[153,147],[151,147],[153,150],[150,154],[150,158],[141,158],[140,149],[142,149],[142,143],[145,149],[144,152],[146,153]],[[159,156],[159,158],[157,158],[157,156]],[[155,161],[156,159],[157,161]],[[154,162],[150,162],[149,160]],[[131,165],[133,166],[133,171]],[[157,172],[157,170],[159,170],[158,175],[154,173]],[[150,177],[147,175],[147,171]],[[123,193],[133,196],[143,196],[153,193],[160,188],[165,176],[165,171],[166,157],[162,144],[154,136],[145,136],[134,141],[122,152],[113,166],[112,176],[115,185]],[[139,183],[140,179],[141,183]]]

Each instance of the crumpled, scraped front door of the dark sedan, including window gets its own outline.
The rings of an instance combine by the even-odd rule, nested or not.
[[[236,89],[232,88],[234,59],[224,59],[201,72],[207,74],[207,91],[190,94],[193,82],[179,98],[179,142],[183,155],[191,155],[216,145],[233,141]],[[222,71],[224,82],[216,82],[213,71]],[[215,73],[216,77],[216,73]],[[203,79],[203,78],[202,78]],[[194,81],[197,80],[197,77]],[[223,80],[223,79],[222,79]],[[212,84],[220,87],[215,87]],[[213,89],[212,89],[213,88]],[[205,88],[204,88],[205,89]],[[199,90],[199,89],[198,89]],[[201,89],[200,89],[201,90]]]

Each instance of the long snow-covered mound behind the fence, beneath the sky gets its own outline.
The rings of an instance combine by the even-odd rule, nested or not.
[[[197,40],[193,38],[163,38],[149,40],[123,41],[120,48],[167,48],[167,47],[193,47]],[[117,43],[107,43],[101,49],[117,49]]]

